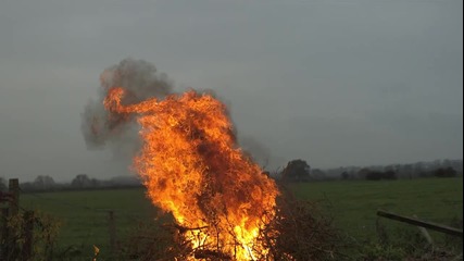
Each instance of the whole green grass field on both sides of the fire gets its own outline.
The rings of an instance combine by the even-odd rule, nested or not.
[[[321,182],[294,184],[289,188],[300,199],[319,202],[334,217],[337,228],[359,240],[375,238],[378,221],[398,229],[416,229],[394,221],[379,220],[377,209],[443,224],[463,219],[462,178]],[[141,188],[23,194],[21,207],[51,214],[62,223],[61,250],[74,246],[91,256],[91,246],[97,245],[102,257],[108,251],[110,210],[115,213],[118,238],[124,238],[140,222],[155,222],[158,216],[156,209]]]

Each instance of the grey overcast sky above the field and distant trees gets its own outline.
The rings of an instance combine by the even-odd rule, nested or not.
[[[128,173],[80,132],[125,58],[215,90],[272,167],[463,158],[462,0],[2,0],[0,176]]]

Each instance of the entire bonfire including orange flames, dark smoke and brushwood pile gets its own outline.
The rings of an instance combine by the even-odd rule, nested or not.
[[[154,65],[131,59],[100,79],[99,101],[83,113],[87,146],[109,142],[121,152],[121,145],[136,145],[129,154],[137,151],[133,167],[147,196],[174,217],[167,234],[145,236],[145,229],[125,253],[137,260],[333,258],[329,220],[280,194],[240,149],[227,108],[212,92],[176,94]]]

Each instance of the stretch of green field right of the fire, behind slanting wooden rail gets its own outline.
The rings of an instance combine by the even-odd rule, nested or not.
[[[463,219],[462,178],[327,182],[290,188],[298,198],[321,201],[337,227],[359,239],[377,236],[377,222],[398,223],[379,220],[377,209],[443,224]]]

